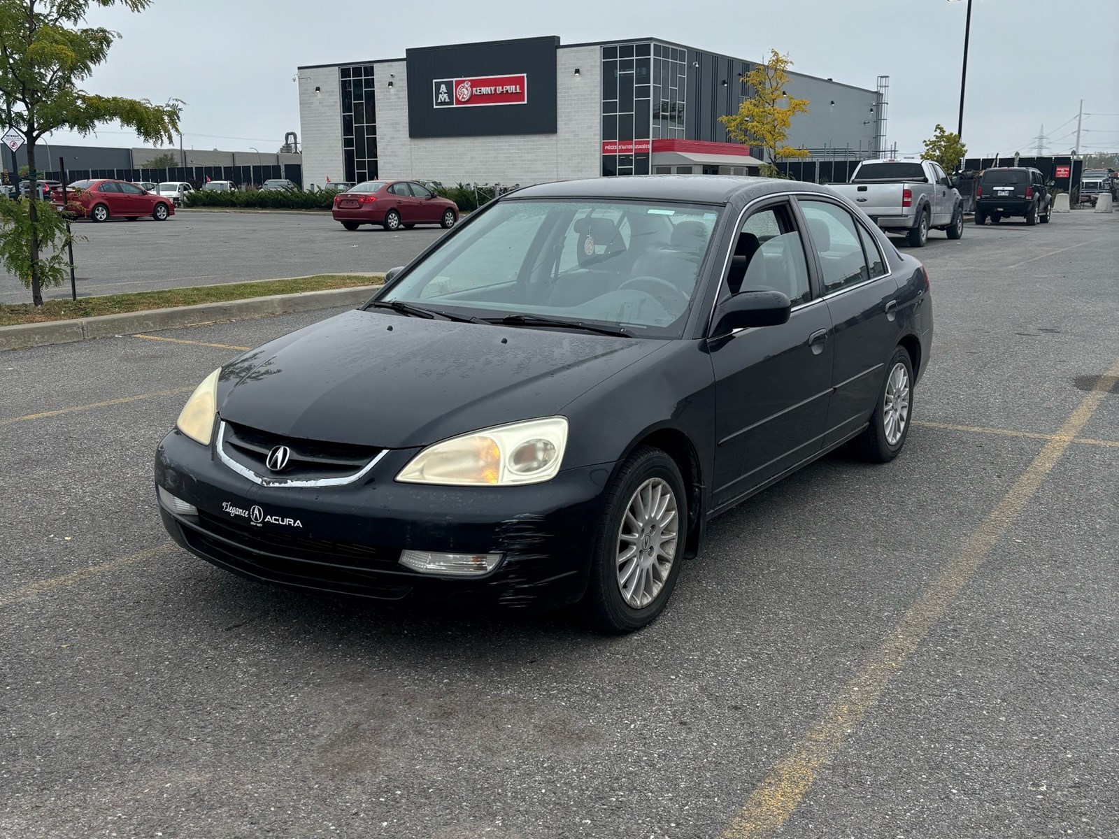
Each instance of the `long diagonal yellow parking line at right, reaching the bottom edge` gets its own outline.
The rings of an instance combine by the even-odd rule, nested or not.
[[[1106,375],[1119,375],[1119,361]],[[1080,402],[1009,492],[971,534],[959,555],[940,572],[886,634],[871,660],[831,700],[824,716],[762,779],[723,833],[725,839],[771,837],[792,816],[826,765],[843,748],[847,736],[877,703],[890,679],[951,607],[956,596],[970,582],[1002,536],[1022,515],[1061,455],[1092,418],[1107,395],[1107,390],[1100,387],[1102,381],[1102,378],[1097,381],[1097,387]]]

